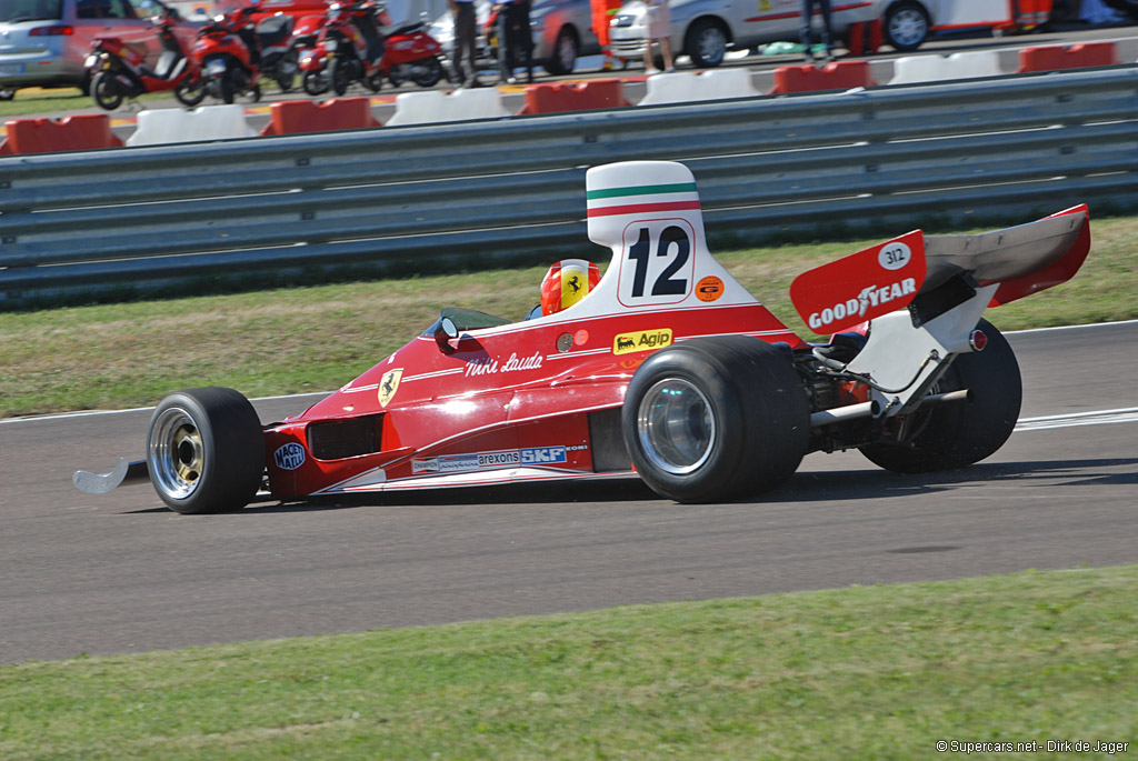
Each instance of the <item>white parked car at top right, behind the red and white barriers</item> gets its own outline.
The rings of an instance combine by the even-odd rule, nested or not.
[[[801,0],[670,0],[671,50],[687,55],[696,68],[723,63],[728,50],[748,50],[766,42],[798,42],[801,31]],[[833,3],[831,26],[834,38],[846,36],[850,24],[869,22],[880,15],[877,2]],[[820,18],[815,20],[820,28]],[[641,0],[627,2],[612,19],[612,52],[620,58],[640,58],[648,26],[646,7]]]

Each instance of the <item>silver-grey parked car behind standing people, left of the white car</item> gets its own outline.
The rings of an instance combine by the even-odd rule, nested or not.
[[[572,74],[580,56],[593,56],[601,46],[593,32],[592,10],[588,0],[533,0],[529,25],[534,35],[534,64],[550,74]],[[486,51],[486,41],[480,34],[489,17],[490,3],[475,0],[478,17],[479,49]],[[430,27],[432,38],[439,41],[447,59],[454,50],[454,17],[446,11]]]

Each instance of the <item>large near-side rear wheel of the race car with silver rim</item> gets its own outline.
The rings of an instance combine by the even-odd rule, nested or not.
[[[791,357],[747,336],[660,349],[633,375],[621,425],[637,473],[684,503],[747,497],[789,479],[810,408]]]

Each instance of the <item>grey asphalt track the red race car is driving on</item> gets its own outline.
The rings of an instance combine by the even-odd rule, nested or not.
[[[149,486],[71,486],[140,456],[149,411],[6,421],[0,662],[1138,562],[1138,323],[1011,338],[1023,417],[1063,419],[953,473],[811,455],[787,487],[724,505],[621,479],[181,516]],[[1130,413],[1086,414],[1107,410]]]

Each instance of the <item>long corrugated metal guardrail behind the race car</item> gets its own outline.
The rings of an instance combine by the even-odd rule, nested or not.
[[[192,276],[583,251],[588,166],[671,159],[711,234],[1138,205],[1138,67],[0,158],[0,305]]]

